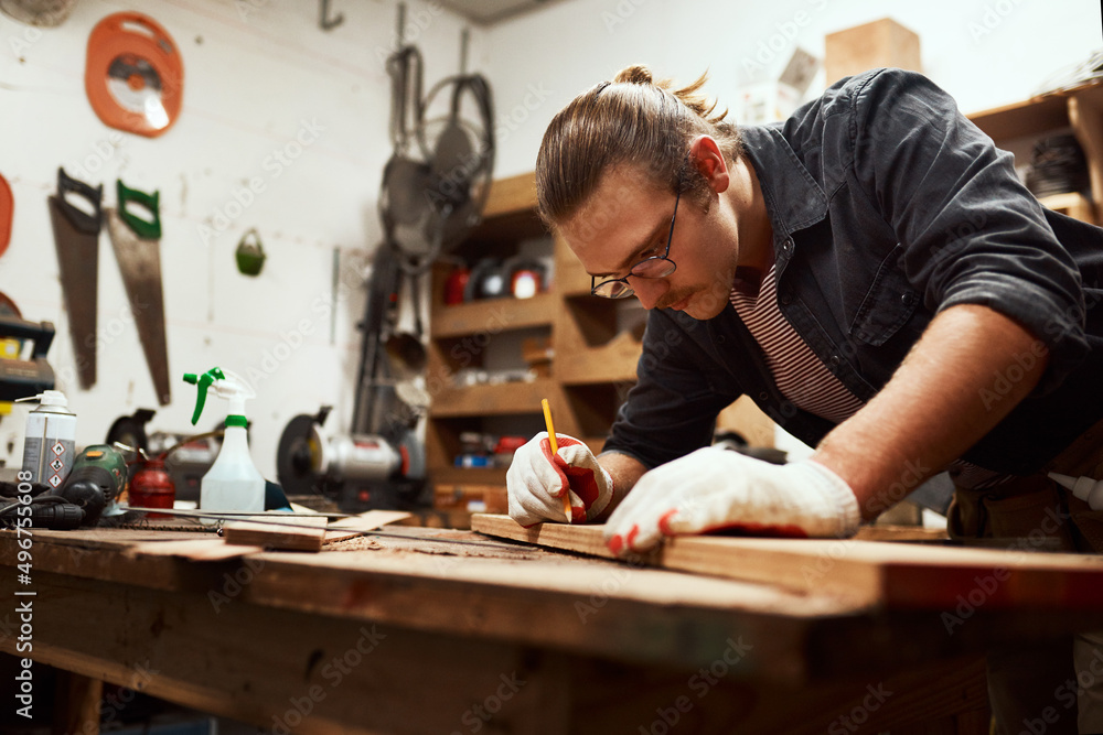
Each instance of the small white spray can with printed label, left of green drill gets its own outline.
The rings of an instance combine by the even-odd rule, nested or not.
[[[32,483],[44,483],[55,490],[62,486],[76,458],[76,414],[68,410],[65,393],[44,390],[20,401],[39,401],[26,415],[23,439],[23,471]]]

